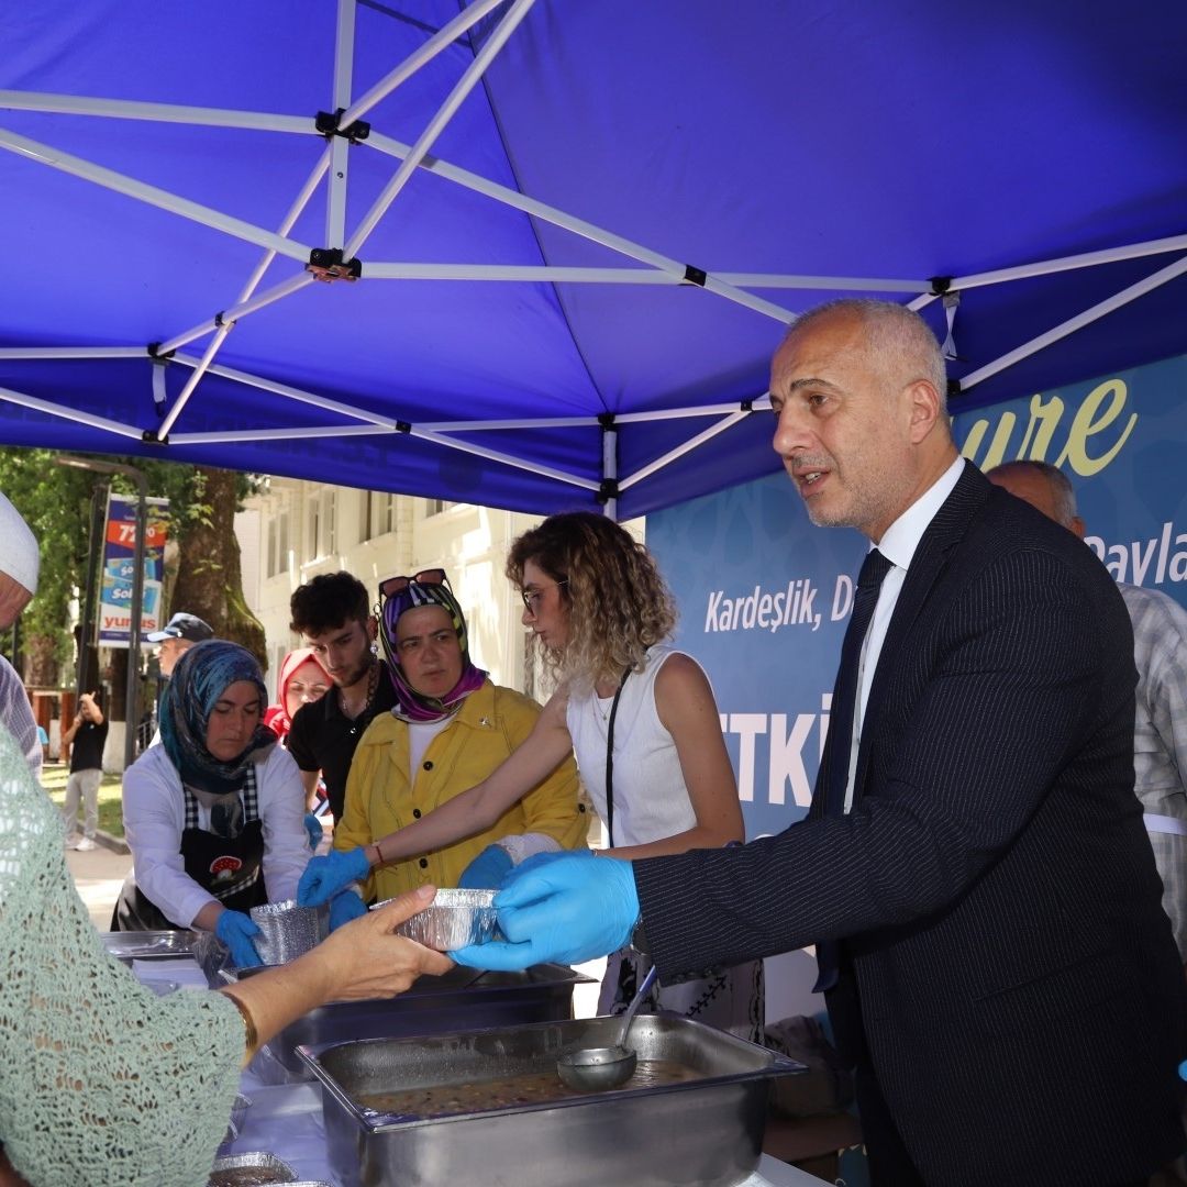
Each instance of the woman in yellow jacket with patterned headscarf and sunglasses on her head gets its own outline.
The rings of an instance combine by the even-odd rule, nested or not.
[[[525,857],[583,844],[586,820],[570,757],[484,831],[417,861],[385,864],[376,839],[490,774],[532,732],[540,706],[474,665],[465,616],[443,569],[389,578],[380,598],[380,643],[395,707],[360,740],[334,852],[310,863],[298,901],[325,902],[355,881],[376,899],[426,883],[456,887],[475,867],[497,881]],[[357,894],[337,894],[331,928],[363,910]]]

